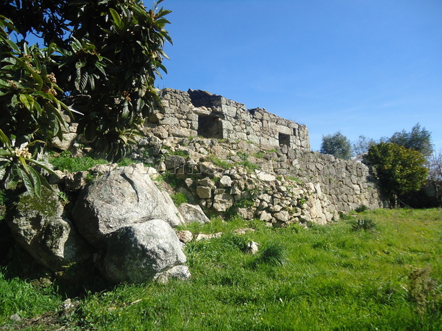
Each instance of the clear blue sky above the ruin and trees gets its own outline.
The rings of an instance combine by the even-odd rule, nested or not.
[[[144,0],[146,7],[151,2]],[[207,90],[323,134],[416,123],[442,148],[441,0],[165,0],[159,88]]]

